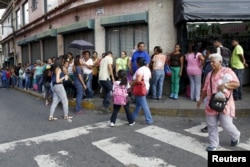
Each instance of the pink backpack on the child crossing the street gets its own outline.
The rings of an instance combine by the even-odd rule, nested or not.
[[[115,82],[112,95],[113,95],[113,104],[122,106],[127,104],[128,92],[125,85],[119,85],[117,82]]]

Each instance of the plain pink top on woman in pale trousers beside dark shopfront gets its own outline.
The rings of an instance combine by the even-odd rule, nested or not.
[[[202,74],[201,61],[199,59],[200,56],[202,56],[202,54],[199,52],[196,54],[196,57],[194,53],[188,53],[186,55],[188,75],[201,75]]]

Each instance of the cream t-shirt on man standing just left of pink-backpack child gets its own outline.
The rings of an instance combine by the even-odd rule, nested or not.
[[[107,81],[110,80],[110,73],[108,65],[113,64],[113,58],[111,56],[104,57],[100,62],[99,80]]]

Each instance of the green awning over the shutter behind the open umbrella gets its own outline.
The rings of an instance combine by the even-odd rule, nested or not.
[[[78,22],[75,24],[67,25],[57,29],[58,34],[68,34],[71,32],[87,30],[87,29],[94,29],[95,21],[94,19],[88,19],[83,22]]]

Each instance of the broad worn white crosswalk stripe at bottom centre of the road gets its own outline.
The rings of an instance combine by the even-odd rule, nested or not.
[[[113,142],[113,140],[115,139],[116,137],[112,137],[93,142],[92,144],[126,166],[134,164],[139,167],[175,167],[174,165],[168,164],[167,162],[159,158],[139,157],[138,155],[130,151],[132,149],[131,145],[125,142]]]

